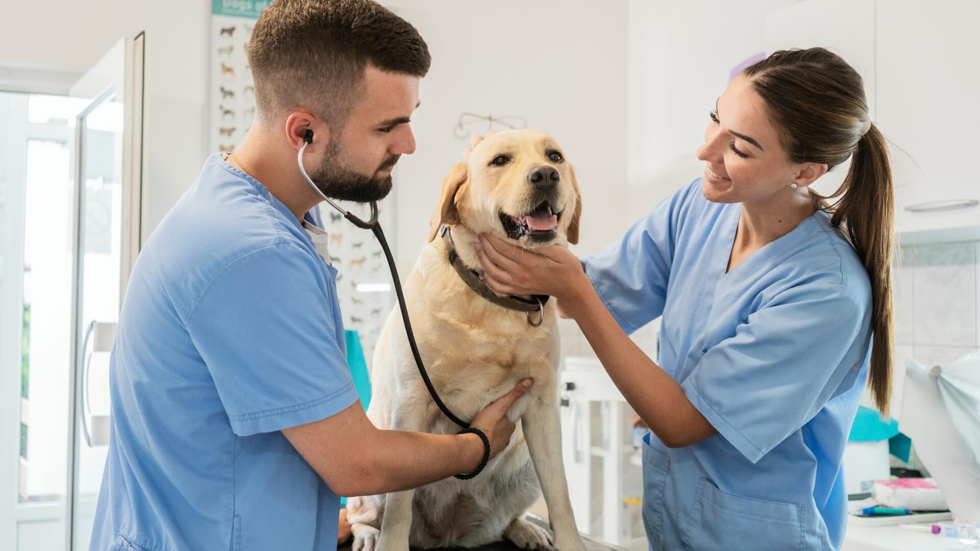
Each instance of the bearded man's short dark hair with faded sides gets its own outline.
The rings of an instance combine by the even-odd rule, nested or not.
[[[371,0],[274,0],[247,54],[263,124],[305,109],[343,125],[368,65],[420,78],[432,61],[416,27]]]

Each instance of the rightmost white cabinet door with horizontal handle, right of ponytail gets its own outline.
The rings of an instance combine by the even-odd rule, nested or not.
[[[980,225],[978,20],[980,2],[877,2],[873,121],[892,142],[897,231]]]

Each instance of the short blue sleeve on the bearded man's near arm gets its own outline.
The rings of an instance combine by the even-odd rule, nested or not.
[[[187,319],[239,436],[313,423],[357,399],[317,262],[288,241],[250,252]]]

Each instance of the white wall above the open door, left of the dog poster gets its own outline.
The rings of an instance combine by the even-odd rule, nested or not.
[[[4,2],[0,66],[80,74],[120,37],[146,30],[146,227],[160,222],[207,155],[210,9],[207,0]]]

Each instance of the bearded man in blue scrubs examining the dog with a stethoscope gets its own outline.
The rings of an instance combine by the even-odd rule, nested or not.
[[[475,434],[378,430],[345,360],[320,198],[380,199],[415,151],[429,68],[412,25],[368,0],[276,0],[248,49],[257,119],[210,157],[147,241],[113,348],[93,550],[334,549],[341,495],[469,473]],[[327,260],[328,260],[328,255]],[[491,456],[526,390],[472,425]]]

